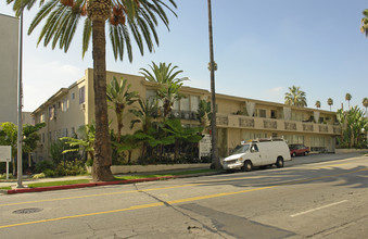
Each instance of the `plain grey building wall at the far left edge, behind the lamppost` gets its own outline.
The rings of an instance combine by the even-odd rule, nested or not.
[[[17,124],[18,18],[0,14],[0,122]]]

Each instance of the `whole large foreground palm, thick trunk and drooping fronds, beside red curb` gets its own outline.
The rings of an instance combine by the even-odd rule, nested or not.
[[[36,1],[7,0],[7,3],[13,2],[13,9],[20,15],[23,8],[30,9]],[[167,1],[176,8],[174,0]],[[164,10],[174,14],[175,12],[164,0],[39,0],[39,4],[41,9],[31,22],[28,34],[31,34],[35,27],[47,17],[38,43],[43,39],[43,46],[51,43],[52,49],[59,43],[59,47],[66,52],[76,33],[79,20],[86,16],[81,50],[83,55],[85,55],[92,38],[93,58],[96,158],[92,178],[94,181],[112,180],[106,102],[106,22],[115,60],[119,58],[123,61],[126,50],[129,61],[132,61],[130,33],[141,54],[143,54],[143,41],[145,41],[149,51],[152,52],[154,43],[158,45],[155,29],[158,24],[157,18],[168,28],[168,18]]]

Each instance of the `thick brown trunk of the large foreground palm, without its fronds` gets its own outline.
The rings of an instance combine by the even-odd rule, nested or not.
[[[113,179],[113,174],[110,169],[112,158],[106,102],[105,21],[103,20],[97,18],[92,22],[92,47],[96,111],[92,179],[93,181],[107,181]]]

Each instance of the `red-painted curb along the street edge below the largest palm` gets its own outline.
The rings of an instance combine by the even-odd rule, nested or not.
[[[50,187],[39,187],[39,188],[16,188],[16,189],[9,189],[4,191],[7,194],[15,194],[15,193],[25,193],[25,192],[53,191],[53,190],[64,190],[64,189],[86,188],[86,187],[126,185],[126,184],[143,183],[143,181],[167,180],[167,179],[179,178],[179,177],[180,176],[164,176],[164,177],[155,177],[155,178],[138,178],[138,179],[128,179],[128,180],[100,181],[100,183],[50,186]]]

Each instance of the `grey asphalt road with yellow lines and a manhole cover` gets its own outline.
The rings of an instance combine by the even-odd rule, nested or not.
[[[348,156],[1,196],[0,238],[367,238],[368,158]]]

